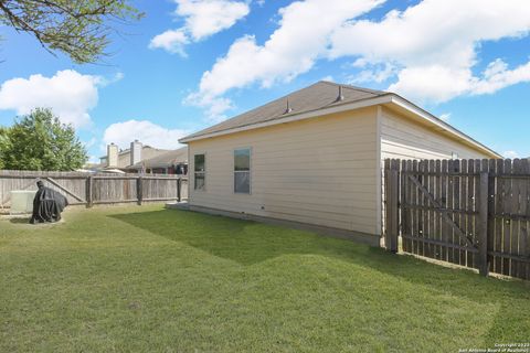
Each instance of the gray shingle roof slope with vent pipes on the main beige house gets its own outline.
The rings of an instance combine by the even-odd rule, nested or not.
[[[341,89],[343,99],[341,100],[337,99],[339,97],[339,87],[342,87]],[[290,115],[374,98],[389,93],[320,81],[314,85],[290,93],[287,96],[243,113],[242,115],[233,117],[229,120],[189,135],[184,139],[197,138],[203,135],[220,132],[244,126],[252,126],[259,122],[285,118]],[[290,113],[286,111],[287,100],[292,109]]]

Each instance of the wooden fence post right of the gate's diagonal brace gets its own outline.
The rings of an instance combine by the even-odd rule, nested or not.
[[[478,270],[481,276],[488,276],[488,183],[489,173],[480,172],[480,188],[478,195]]]

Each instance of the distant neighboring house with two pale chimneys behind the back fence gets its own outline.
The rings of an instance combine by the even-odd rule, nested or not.
[[[99,158],[99,171],[123,171],[128,173],[186,174],[188,171],[188,148],[177,150],[157,149],[138,140],[130,148],[118,150],[118,146],[107,146],[107,154]]]

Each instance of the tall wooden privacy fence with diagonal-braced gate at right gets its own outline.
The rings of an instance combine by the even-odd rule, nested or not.
[[[530,279],[529,160],[385,160],[384,243]]]

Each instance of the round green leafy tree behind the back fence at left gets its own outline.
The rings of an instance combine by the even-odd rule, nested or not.
[[[51,109],[38,108],[9,128],[4,169],[75,170],[86,162],[85,147],[71,125],[61,124]]]

